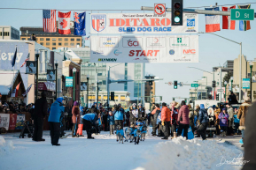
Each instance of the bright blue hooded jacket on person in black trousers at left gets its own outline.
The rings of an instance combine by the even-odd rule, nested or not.
[[[50,115],[48,118],[48,122],[60,122],[60,117],[62,113],[64,113],[65,107],[58,100],[54,101],[50,107]]]

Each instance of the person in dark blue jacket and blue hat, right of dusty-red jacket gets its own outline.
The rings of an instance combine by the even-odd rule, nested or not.
[[[201,135],[203,140],[206,140],[206,129],[208,125],[208,115],[205,109],[205,105],[200,105],[199,115],[198,115],[198,135]]]

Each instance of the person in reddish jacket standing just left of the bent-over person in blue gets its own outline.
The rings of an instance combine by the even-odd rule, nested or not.
[[[74,106],[72,108],[72,122],[73,128],[72,128],[72,137],[78,137],[77,135],[77,129],[78,129],[78,123],[80,122],[80,109],[79,109],[79,103],[77,101],[74,101]]]

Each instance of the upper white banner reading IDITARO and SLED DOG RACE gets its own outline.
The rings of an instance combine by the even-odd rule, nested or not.
[[[171,26],[171,13],[92,13],[90,33],[198,33],[198,14],[183,13],[183,26]]]

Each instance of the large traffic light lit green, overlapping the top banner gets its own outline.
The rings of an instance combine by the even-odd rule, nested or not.
[[[183,25],[183,0],[172,0],[172,26]]]

